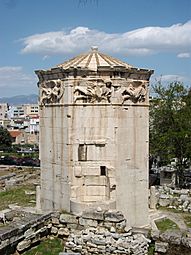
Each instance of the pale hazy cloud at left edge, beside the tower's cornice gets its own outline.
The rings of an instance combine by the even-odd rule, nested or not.
[[[37,84],[35,75],[26,74],[21,66],[0,67],[1,96],[33,93]]]

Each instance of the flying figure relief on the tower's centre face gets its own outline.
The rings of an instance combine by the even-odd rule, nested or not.
[[[105,81],[101,84],[87,82],[85,85],[78,85],[74,89],[74,102],[83,100],[87,103],[110,102],[111,81]]]

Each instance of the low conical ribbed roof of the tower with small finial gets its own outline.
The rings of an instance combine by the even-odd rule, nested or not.
[[[57,65],[57,67],[63,69],[70,68],[86,68],[92,71],[97,71],[99,67],[122,67],[122,68],[132,68],[133,66],[122,62],[116,58],[105,55],[98,51],[96,46],[91,47],[91,51],[85,54],[80,54],[62,64]]]

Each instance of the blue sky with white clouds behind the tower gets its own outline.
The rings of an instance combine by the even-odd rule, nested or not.
[[[35,70],[91,46],[190,87],[191,0],[0,0],[0,97],[37,94]]]

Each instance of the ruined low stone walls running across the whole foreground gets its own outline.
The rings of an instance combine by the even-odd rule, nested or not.
[[[22,254],[44,238],[58,237],[64,241],[62,254],[146,255],[150,242],[155,254],[168,254],[173,245],[191,249],[191,233],[131,229],[119,211],[84,211],[75,216],[65,213],[37,215],[23,211],[0,214],[5,226],[0,228],[0,254]],[[167,253],[166,253],[167,252]],[[181,253],[183,254],[183,253]],[[188,254],[188,253],[184,253]]]

